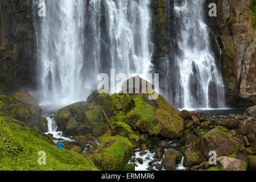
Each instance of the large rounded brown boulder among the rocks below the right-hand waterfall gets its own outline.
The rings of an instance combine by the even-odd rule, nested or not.
[[[196,142],[197,149],[203,152],[207,159],[210,158],[210,151],[216,151],[217,157],[228,156],[233,154],[239,146],[240,143],[232,138],[232,134],[222,128],[210,130]]]

